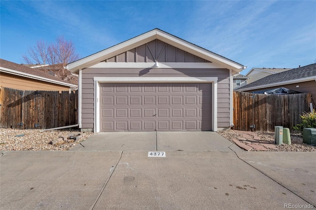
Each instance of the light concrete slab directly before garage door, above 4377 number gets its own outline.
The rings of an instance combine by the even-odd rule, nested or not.
[[[70,151],[242,151],[216,132],[98,133]]]

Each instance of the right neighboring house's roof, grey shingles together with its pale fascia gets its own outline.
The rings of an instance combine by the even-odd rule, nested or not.
[[[237,90],[246,91],[311,80],[316,80],[316,64],[311,64],[308,66],[287,70],[280,73],[275,73],[263,77],[245,86],[242,86]]]

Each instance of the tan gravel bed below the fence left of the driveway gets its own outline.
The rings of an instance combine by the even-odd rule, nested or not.
[[[58,137],[66,136],[79,131],[44,131],[40,130],[15,130],[0,128],[0,150],[68,150],[81,141],[89,138],[93,133],[82,133],[82,138],[75,142],[62,142],[58,145],[51,145],[49,142]],[[18,137],[17,135],[24,135]]]

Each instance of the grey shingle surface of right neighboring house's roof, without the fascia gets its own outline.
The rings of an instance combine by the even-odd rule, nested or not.
[[[261,85],[274,84],[278,82],[285,82],[294,79],[301,79],[306,77],[316,76],[316,64],[307,65],[304,67],[283,71],[280,73],[272,74],[261,79],[258,79],[250,84],[238,88],[242,90],[245,88],[252,88]]]

